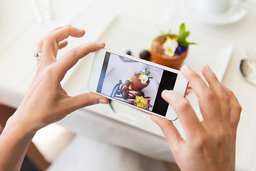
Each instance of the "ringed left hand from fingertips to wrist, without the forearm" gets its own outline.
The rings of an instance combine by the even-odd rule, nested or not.
[[[38,60],[36,76],[11,118],[12,122],[22,126],[25,133],[34,133],[79,108],[108,103],[107,98],[94,93],[71,97],[61,87],[60,81],[80,58],[105,46],[104,43],[87,43],[72,49],[57,61],[57,52],[67,46],[66,38],[69,36],[82,37],[84,30],[72,26],[56,28],[38,43],[37,52],[42,56],[41,60]]]

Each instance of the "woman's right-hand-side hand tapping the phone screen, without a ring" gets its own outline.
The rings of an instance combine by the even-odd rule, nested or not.
[[[177,113],[184,140],[171,121],[152,115],[162,129],[180,170],[235,170],[235,141],[241,106],[231,90],[217,80],[209,66],[202,68],[207,84],[187,66],[182,74],[195,91],[203,116],[198,120],[186,98],[169,90],[162,93]]]

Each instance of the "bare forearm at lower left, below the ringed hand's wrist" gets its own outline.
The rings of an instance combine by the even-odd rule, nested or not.
[[[11,118],[7,121],[0,136],[0,171],[20,170],[21,163],[34,133],[26,133],[26,128],[15,123]]]

